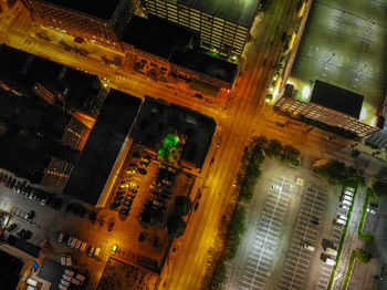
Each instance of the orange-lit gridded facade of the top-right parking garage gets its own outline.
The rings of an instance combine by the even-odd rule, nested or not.
[[[313,102],[304,103],[287,95],[283,95],[276,102],[275,106],[291,114],[300,114],[305,117],[323,122],[330,126],[341,127],[345,131],[355,133],[358,136],[366,136],[379,130],[378,127],[373,127],[362,123],[354,116]]]

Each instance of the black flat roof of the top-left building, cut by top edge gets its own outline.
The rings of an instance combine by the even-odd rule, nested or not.
[[[84,14],[111,20],[121,0],[42,0]]]

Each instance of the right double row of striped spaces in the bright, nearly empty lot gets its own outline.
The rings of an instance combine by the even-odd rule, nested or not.
[[[308,187],[305,190],[279,289],[304,289],[304,280],[310,275],[311,258],[320,252],[318,224],[326,199],[326,193],[320,188]],[[304,245],[307,245],[307,248],[304,248]]]

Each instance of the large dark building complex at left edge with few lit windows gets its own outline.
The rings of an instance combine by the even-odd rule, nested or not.
[[[105,92],[95,75],[0,45],[0,167],[63,189]],[[104,92],[104,93],[102,93]]]

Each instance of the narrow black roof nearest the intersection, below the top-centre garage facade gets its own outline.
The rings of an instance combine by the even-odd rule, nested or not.
[[[234,63],[194,50],[175,51],[170,62],[228,83],[233,82],[238,71],[238,65]]]

